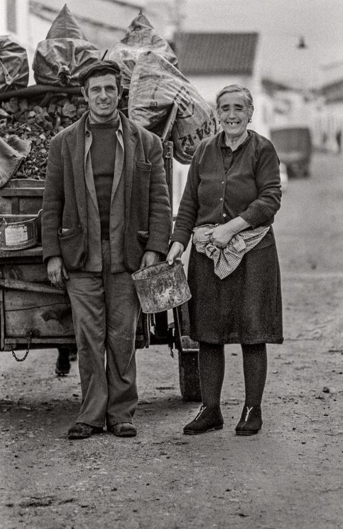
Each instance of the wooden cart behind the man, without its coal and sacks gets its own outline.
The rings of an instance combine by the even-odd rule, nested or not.
[[[47,87],[41,87],[42,93]],[[51,87],[49,87],[51,89]],[[63,89],[64,91],[64,89]],[[40,93],[40,87],[34,87]],[[75,89],[73,89],[75,93]],[[25,89],[12,93],[25,97]],[[3,99],[1,95],[0,100]],[[7,97],[11,94],[8,93]],[[126,111],[125,96],[121,110]],[[169,141],[176,105],[160,129],[169,194],[173,196],[173,143]],[[0,213],[36,215],[42,207],[44,180],[14,179],[0,189]],[[186,401],[201,401],[198,375],[198,344],[189,338],[187,303],[171,314],[141,314],[136,348],[166,344],[178,351],[180,392]],[[170,320],[172,320],[170,322]],[[0,250],[0,351],[11,351],[24,360],[29,349],[75,350],[71,306],[66,292],[52,287],[43,264],[40,245],[23,250]],[[17,355],[16,350],[23,353]]]

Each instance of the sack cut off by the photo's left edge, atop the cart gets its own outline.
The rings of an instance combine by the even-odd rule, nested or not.
[[[26,88],[28,82],[26,50],[12,36],[0,36],[0,92]]]

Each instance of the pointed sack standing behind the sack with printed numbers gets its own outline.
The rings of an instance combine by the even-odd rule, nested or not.
[[[108,58],[117,61],[120,66],[124,88],[128,89],[130,85],[132,71],[139,56],[150,50],[177,66],[178,59],[167,40],[159,36],[147,17],[139,12],[128,27],[126,35],[108,54]]]

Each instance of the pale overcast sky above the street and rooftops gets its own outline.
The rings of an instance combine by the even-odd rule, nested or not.
[[[306,88],[332,73],[328,65],[341,63],[343,78],[343,0],[177,3],[180,29],[185,32],[259,32],[263,75]],[[305,38],[306,49],[297,48],[300,36]]]

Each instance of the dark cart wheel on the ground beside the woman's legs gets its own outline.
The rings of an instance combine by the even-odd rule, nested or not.
[[[198,350],[178,351],[180,391],[184,401],[201,402]]]

